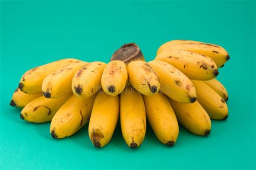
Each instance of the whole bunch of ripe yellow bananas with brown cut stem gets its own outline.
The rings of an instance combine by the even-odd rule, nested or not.
[[[125,44],[109,63],[63,59],[28,70],[10,105],[22,108],[25,121],[51,121],[52,138],[69,137],[89,122],[92,144],[103,147],[120,117],[129,147],[143,143],[147,121],[161,143],[173,146],[178,123],[207,136],[211,119],[228,117],[227,91],[215,79],[228,59],[218,45],[172,40],[146,62],[136,44]]]

